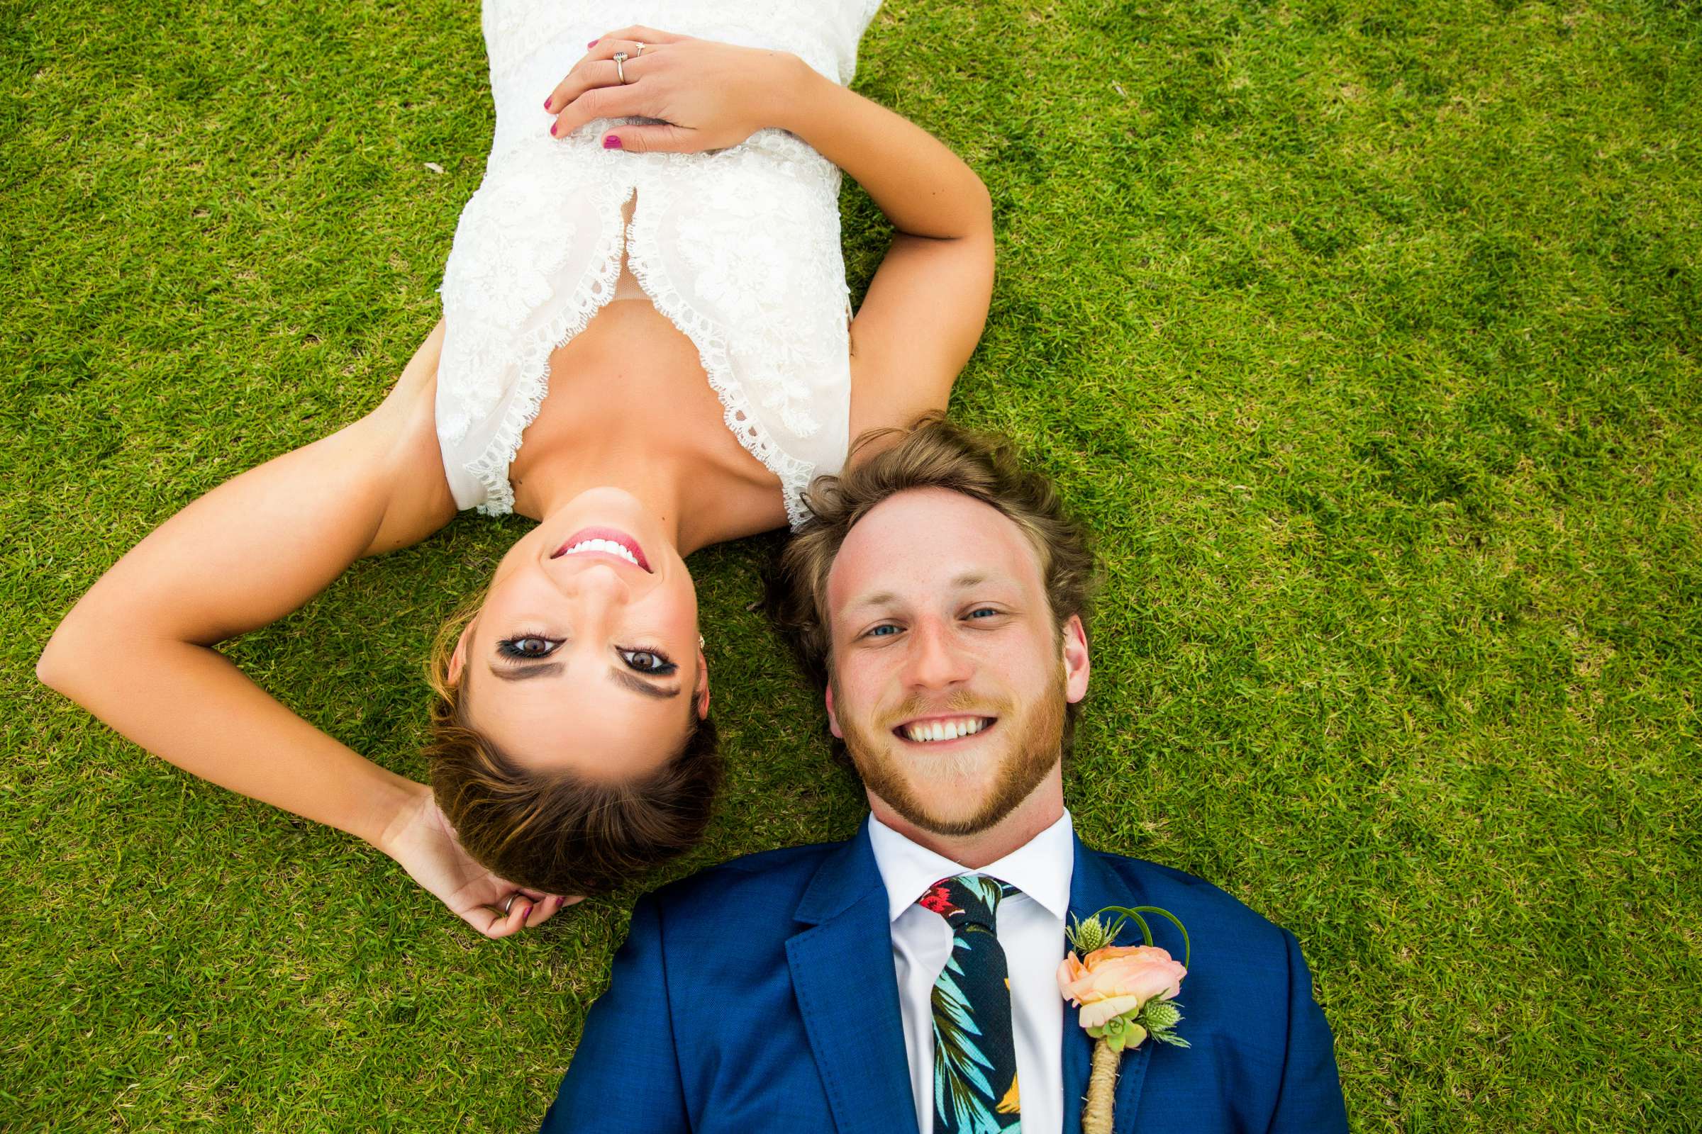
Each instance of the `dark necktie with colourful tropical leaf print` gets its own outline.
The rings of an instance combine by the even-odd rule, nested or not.
[[[951,927],[951,955],[934,981],[934,1134],[1021,1131],[1011,981],[999,945],[999,901],[1019,893],[994,877],[934,882],[916,904]]]

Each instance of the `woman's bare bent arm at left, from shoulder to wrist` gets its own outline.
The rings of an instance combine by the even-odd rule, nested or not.
[[[368,417],[153,530],[65,615],[37,677],[187,772],[381,843],[424,789],[289,712],[213,646],[454,515],[432,428],[441,342],[439,325]]]

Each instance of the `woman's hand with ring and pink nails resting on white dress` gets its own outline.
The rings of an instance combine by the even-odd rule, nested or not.
[[[638,44],[643,44],[640,54]],[[623,85],[614,53],[625,51]],[[654,117],[655,126],[611,126],[606,150],[696,153],[723,150],[768,126],[803,61],[785,51],[623,27],[599,36],[545,100],[550,133],[567,138],[594,119]]]

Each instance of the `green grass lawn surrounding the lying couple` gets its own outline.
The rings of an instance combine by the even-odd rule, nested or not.
[[[863,43],[997,209],[953,413],[1101,537],[1077,830],[1299,935],[1356,1129],[1702,1122],[1699,77],[1693,0],[890,0]],[[32,678],[153,525],[376,405],[490,126],[475,3],[0,0],[0,1127],[526,1129],[568,1063],[638,887],[480,940]],[[427,641],[521,530],[230,649],[422,777]],[[863,813],[747,612],[774,542],[691,564],[732,774],[676,872]]]

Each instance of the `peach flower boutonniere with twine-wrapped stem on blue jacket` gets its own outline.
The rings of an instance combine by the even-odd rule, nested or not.
[[[1099,920],[1106,913],[1117,915],[1111,925]],[[1181,964],[1168,950],[1152,945],[1152,927],[1142,913],[1157,913],[1176,923],[1181,930]],[[1117,935],[1128,921],[1140,927],[1144,945],[1117,945]],[[1188,1040],[1176,1035],[1181,1012],[1171,1000],[1181,991],[1181,978],[1188,976],[1193,947],[1176,915],[1157,906],[1106,906],[1086,921],[1077,920],[1064,935],[1071,952],[1059,964],[1059,991],[1081,1008],[1081,1025],[1096,1040],[1081,1131],[1111,1134],[1111,1098],[1123,1049],[1139,1047],[1149,1035],[1161,1044],[1188,1046]]]

